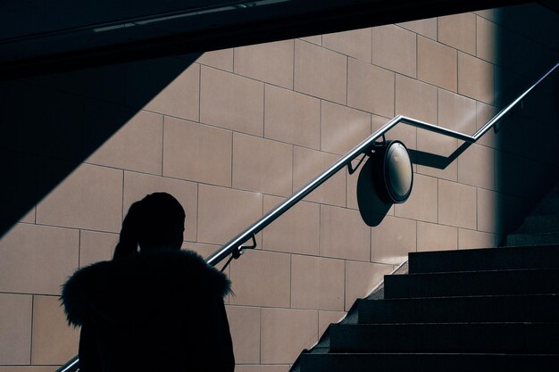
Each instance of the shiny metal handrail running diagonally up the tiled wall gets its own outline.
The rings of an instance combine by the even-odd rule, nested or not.
[[[292,194],[288,200],[283,203],[280,203],[276,208],[266,213],[266,215],[262,218],[254,222],[253,225],[246,228],[242,233],[238,236],[235,236],[231,239],[227,244],[221,246],[219,250],[213,252],[213,254],[208,258],[207,263],[211,266],[215,266],[224,260],[229,254],[233,257],[238,258],[240,254],[242,254],[243,249],[249,248],[244,247],[242,244],[245,244],[249,240],[253,239],[255,244],[254,236],[258,234],[260,231],[263,230],[264,227],[267,227],[271,224],[275,219],[278,219],[283,213],[288,211],[291,207],[293,207],[296,203],[300,202],[306,195],[313,192],[318,186],[321,186],[326,180],[332,177],[334,174],[338,172],[338,170],[345,168],[348,166],[351,161],[355,160],[357,156],[362,153],[366,153],[371,145],[374,145],[374,142],[379,139],[381,136],[384,136],[388,130],[391,128],[396,127],[399,123],[404,123],[407,125],[412,125],[417,128],[422,128],[429,130],[431,132],[435,132],[441,135],[450,136],[464,142],[473,144],[478,141],[480,136],[483,136],[488,132],[490,128],[493,128],[497,121],[503,119],[503,117],[513,110],[513,107],[516,104],[520,103],[521,100],[530,93],[535,87],[539,85],[544,79],[546,79],[551,73],[553,73],[557,67],[559,67],[559,62],[555,64],[550,70],[538,79],[534,84],[532,84],[528,89],[526,89],[521,95],[519,95],[512,103],[509,103],[503,110],[498,112],[493,118],[488,120],[483,127],[478,129],[472,136],[464,135],[463,133],[457,132],[455,130],[446,129],[442,127],[438,127],[435,124],[430,124],[426,121],[415,120],[413,118],[408,118],[406,116],[397,115],[394,119],[389,120],[385,125],[375,131],[371,136],[367,137],[361,144],[356,145],[353,150],[349,153],[346,153],[342,158],[336,161],[334,164],[330,166],[330,168],[324,170],[321,175],[314,178],[311,182],[306,184],[305,186],[301,187],[295,194]],[[252,247],[250,247],[252,248]],[[75,372],[79,370],[79,359],[78,357],[74,357],[69,360],[63,367],[58,368],[56,372]]]

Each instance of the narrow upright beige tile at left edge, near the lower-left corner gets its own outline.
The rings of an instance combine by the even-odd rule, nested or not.
[[[29,364],[32,296],[0,293],[0,364]]]

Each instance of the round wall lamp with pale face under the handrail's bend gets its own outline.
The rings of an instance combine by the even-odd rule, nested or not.
[[[404,203],[412,194],[413,167],[410,154],[400,141],[374,146],[373,182],[387,203]]]

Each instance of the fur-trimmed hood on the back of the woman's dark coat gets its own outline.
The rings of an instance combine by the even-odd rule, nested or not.
[[[229,279],[196,252],[163,251],[79,269],[63,285],[61,301],[74,326],[88,317],[135,324],[229,292]]]

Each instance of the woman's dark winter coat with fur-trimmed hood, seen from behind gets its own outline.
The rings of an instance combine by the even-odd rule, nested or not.
[[[81,326],[81,372],[229,372],[235,360],[223,297],[229,280],[194,252],[103,261],[63,285]]]

